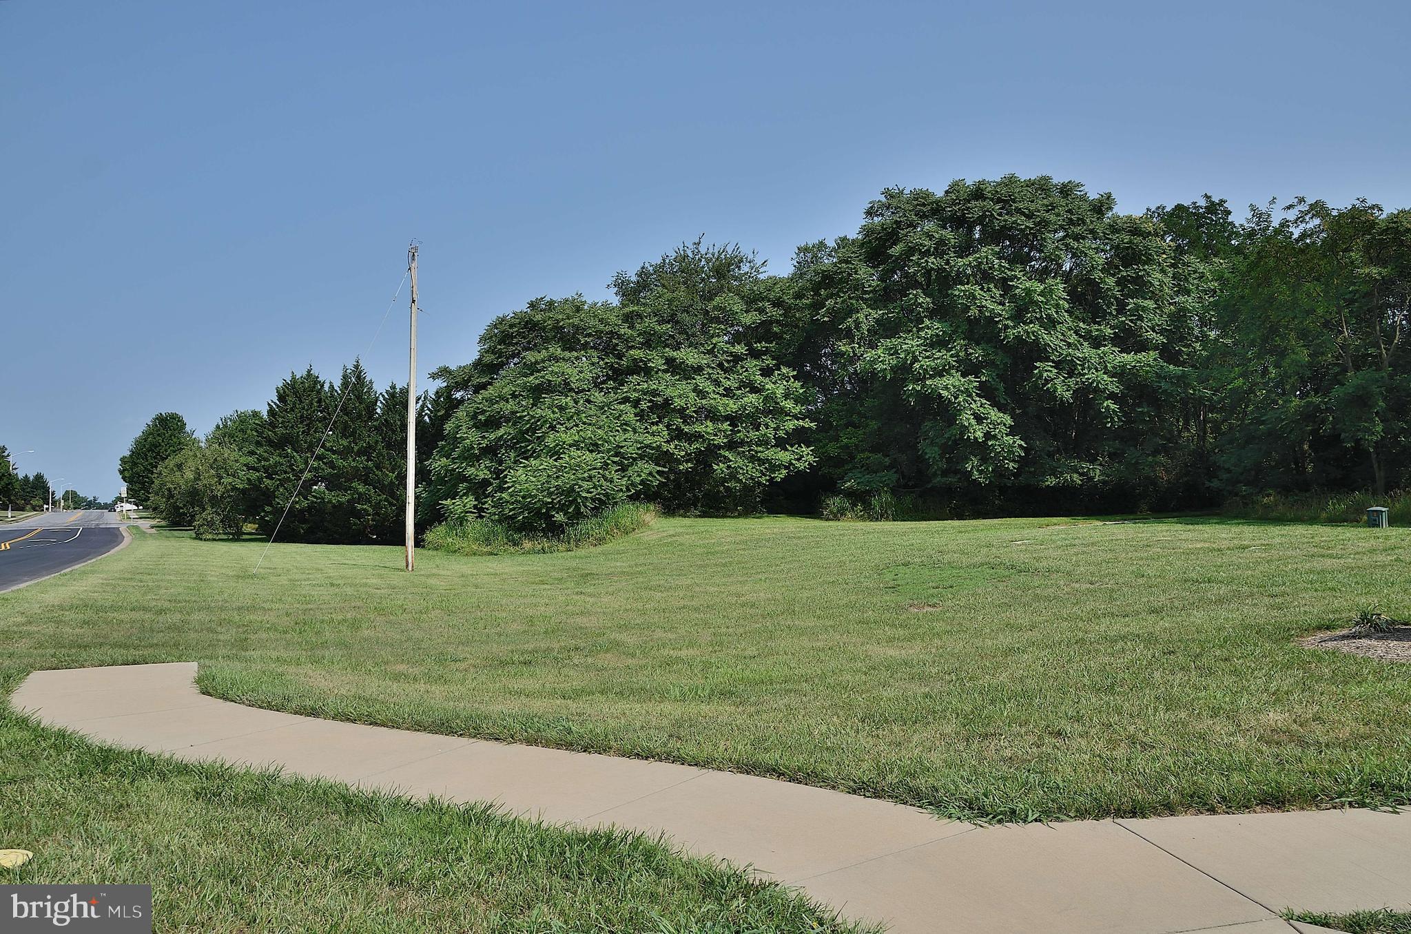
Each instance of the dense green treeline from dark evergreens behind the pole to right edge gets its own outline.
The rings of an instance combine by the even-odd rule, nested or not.
[[[1411,480],[1407,210],[1120,214],[1077,182],[1005,176],[889,189],[789,275],[696,241],[610,288],[497,317],[474,361],[433,374],[423,522],[553,535],[628,501],[1184,509]],[[291,377],[248,415],[261,528],[336,391]],[[356,395],[296,536],[395,533],[405,389]]]

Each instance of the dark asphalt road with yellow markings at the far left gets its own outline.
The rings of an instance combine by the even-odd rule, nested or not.
[[[0,516],[3,518],[3,516]],[[48,512],[0,523],[0,591],[66,571],[123,543],[116,512]]]

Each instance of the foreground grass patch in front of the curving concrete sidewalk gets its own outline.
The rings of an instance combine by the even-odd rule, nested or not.
[[[0,883],[150,883],[161,931],[845,930],[641,835],[185,765],[13,714],[0,751],[0,845],[35,854]]]

